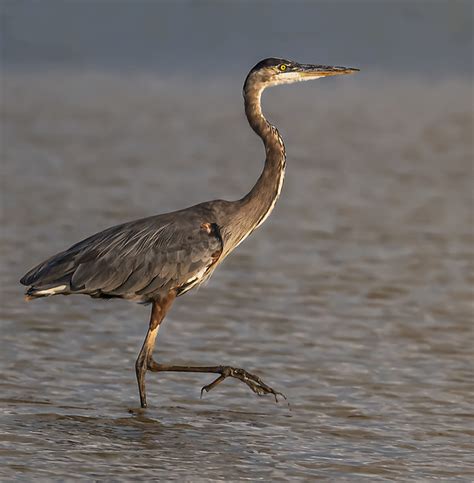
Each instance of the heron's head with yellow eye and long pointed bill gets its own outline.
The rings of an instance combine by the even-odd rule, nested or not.
[[[298,64],[291,60],[268,58],[260,61],[251,69],[245,79],[244,90],[250,83],[262,88],[280,84],[291,84],[321,77],[352,74],[359,69],[329,65]]]

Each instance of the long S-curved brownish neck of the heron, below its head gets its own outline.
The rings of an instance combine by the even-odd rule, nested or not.
[[[262,138],[265,145],[265,166],[255,186],[241,202],[247,217],[249,234],[270,215],[280,195],[285,177],[285,145],[276,127],[262,113],[262,84],[246,83],[244,86],[245,114],[251,128]],[[246,224],[247,224],[246,223]]]

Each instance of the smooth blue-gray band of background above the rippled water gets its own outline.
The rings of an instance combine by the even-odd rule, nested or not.
[[[364,70],[472,73],[472,2],[5,1],[6,66],[240,75],[287,56]]]

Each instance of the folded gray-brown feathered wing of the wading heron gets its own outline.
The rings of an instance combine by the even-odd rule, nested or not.
[[[201,283],[222,253],[204,213],[186,210],[109,228],[41,263],[22,279],[29,296],[85,293],[147,301]],[[55,290],[56,289],[56,290]]]

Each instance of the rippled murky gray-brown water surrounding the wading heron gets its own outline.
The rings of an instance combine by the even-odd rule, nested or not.
[[[0,478],[474,478],[471,85],[379,80],[265,95],[280,202],[160,331],[158,359],[244,367],[291,407],[149,374],[139,411],[149,308],[27,304],[18,279],[99,229],[246,192],[263,150],[240,80],[4,76]]]

